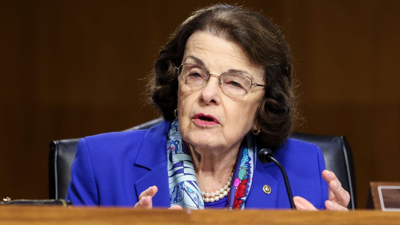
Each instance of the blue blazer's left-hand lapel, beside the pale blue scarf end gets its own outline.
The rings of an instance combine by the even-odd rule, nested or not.
[[[171,123],[163,121],[150,128],[136,156],[136,167],[148,169],[135,182],[136,198],[149,187],[156,185],[158,192],[153,197],[153,207],[170,207],[167,169],[167,135]],[[138,199],[139,200],[139,199]]]

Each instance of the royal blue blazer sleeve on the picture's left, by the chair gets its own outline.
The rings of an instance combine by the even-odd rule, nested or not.
[[[66,200],[71,201],[73,205],[99,205],[90,152],[84,138],[79,140],[76,147]]]

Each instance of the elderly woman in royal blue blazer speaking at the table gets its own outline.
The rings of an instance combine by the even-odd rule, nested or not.
[[[288,173],[297,209],[346,210],[349,195],[324,170],[320,149],[288,138],[293,88],[288,44],[270,20],[238,6],[202,8],[162,48],[150,78],[151,101],[165,121],[81,139],[67,199],[136,208],[288,208],[278,167],[256,157],[269,147]]]

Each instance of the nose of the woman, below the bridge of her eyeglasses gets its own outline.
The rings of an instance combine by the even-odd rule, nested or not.
[[[200,96],[199,101],[204,102],[205,104],[220,104],[220,93],[221,88],[219,85],[220,79],[218,76],[210,74],[206,85],[204,85]]]

